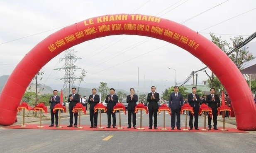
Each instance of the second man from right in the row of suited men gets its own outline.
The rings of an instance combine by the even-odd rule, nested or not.
[[[188,104],[193,107],[195,122],[194,127],[198,129],[198,113],[200,108],[200,96],[196,94],[196,87],[192,87],[192,93],[188,94]],[[193,114],[189,114],[189,127],[193,129]]]

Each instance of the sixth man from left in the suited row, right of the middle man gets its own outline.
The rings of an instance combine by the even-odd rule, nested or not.
[[[151,87],[151,92],[148,93],[148,97],[146,101],[149,102],[148,109],[149,109],[149,129],[152,129],[153,126],[153,114],[154,114],[154,129],[157,129],[157,111],[158,111],[158,104],[157,102],[160,100],[159,94],[156,91],[156,87]]]

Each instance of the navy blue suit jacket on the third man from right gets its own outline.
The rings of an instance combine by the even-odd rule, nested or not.
[[[169,97],[169,107],[171,110],[180,110],[181,106],[183,106],[183,96],[180,92],[178,92],[177,97],[175,92],[170,94]]]

